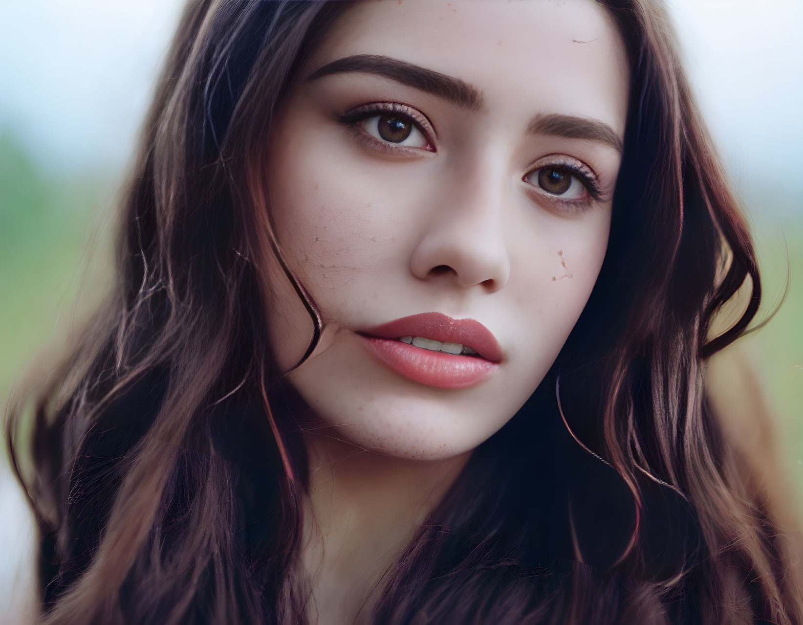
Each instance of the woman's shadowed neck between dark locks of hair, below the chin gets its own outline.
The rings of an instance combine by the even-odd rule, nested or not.
[[[301,562],[312,585],[312,614],[318,625],[354,623],[470,452],[406,460],[344,443],[328,431],[305,435],[305,443],[309,483]]]

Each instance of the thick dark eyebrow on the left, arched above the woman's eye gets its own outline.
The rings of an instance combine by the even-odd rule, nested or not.
[[[369,74],[385,76],[390,80],[396,80],[423,92],[431,93],[433,96],[449,100],[470,111],[481,111],[483,109],[483,96],[478,88],[472,87],[459,78],[446,76],[446,74],[441,74],[438,71],[419,67],[406,61],[392,59],[389,56],[344,56],[342,59],[327,63],[324,67],[319,67],[316,71],[313,71],[306,82],[323,76],[330,76],[331,74],[340,74],[344,71],[364,71]]]

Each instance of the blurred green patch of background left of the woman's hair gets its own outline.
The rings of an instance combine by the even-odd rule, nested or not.
[[[108,179],[48,175],[10,133],[0,133],[0,397],[39,349],[66,338],[107,202]],[[97,252],[95,279],[108,269],[108,246]]]

